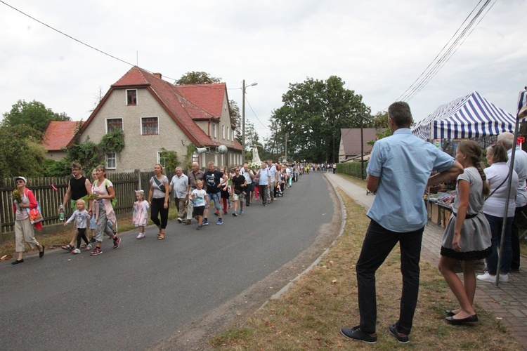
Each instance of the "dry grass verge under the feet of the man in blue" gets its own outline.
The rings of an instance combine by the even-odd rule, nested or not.
[[[521,350],[521,345],[500,320],[479,308],[477,301],[481,322],[474,326],[447,324],[444,310],[456,307],[457,302],[437,268],[424,260],[410,345],[397,343],[387,333],[389,324],[398,318],[401,295],[397,247],[377,271],[379,342],[372,346],[341,336],[341,326],[355,326],[359,321],[355,263],[369,222],[361,206],[342,192],[341,196],[348,219],[344,233],[329,253],[281,298],[271,300],[241,328],[229,329],[210,340],[213,347],[228,350],[339,350],[342,347]]]

